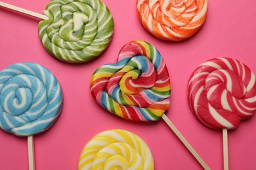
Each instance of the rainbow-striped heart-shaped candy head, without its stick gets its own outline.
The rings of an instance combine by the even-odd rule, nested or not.
[[[159,120],[169,109],[169,74],[160,53],[148,42],[125,44],[116,63],[93,73],[90,85],[99,105],[127,120]]]

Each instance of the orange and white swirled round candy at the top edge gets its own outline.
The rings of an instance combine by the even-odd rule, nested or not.
[[[181,41],[202,27],[207,0],[137,0],[137,13],[143,27],[159,39]]]

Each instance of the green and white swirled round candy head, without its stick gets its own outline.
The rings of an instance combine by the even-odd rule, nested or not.
[[[99,56],[110,44],[114,23],[100,0],[52,0],[39,23],[43,46],[54,57],[82,63]]]

